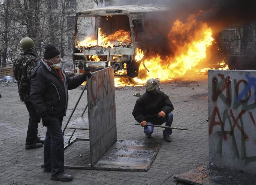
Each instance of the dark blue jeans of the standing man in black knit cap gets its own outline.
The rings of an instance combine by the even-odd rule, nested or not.
[[[63,116],[51,118],[51,125],[47,126],[44,142],[44,168],[51,169],[51,175],[64,173],[64,141],[61,130]]]

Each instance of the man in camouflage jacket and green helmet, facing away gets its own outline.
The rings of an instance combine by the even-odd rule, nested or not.
[[[14,61],[13,70],[14,77],[18,82],[20,100],[24,101],[29,111],[29,125],[25,149],[40,148],[44,143],[44,140],[38,138],[38,123],[41,118],[30,102],[30,71],[35,67],[38,58],[33,51],[35,43],[31,38],[25,37],[20,43],[22,52],[20,57]]]

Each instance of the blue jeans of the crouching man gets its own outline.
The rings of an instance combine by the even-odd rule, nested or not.
[[[165,125],[167,127],[172,126],[172,120],[173,120],[173,114],[170,112],[167,116],[158,118],[155,122],[148,122],[148,125],[161,125],[165,122]],[[144,127],[144,133],[149,135],[152,134],[154,131],[154,127],[151,126],[146,126]],[[171,135],[172,134],[172,129],[171,128],[165,128],[163,131],[164,135]]]

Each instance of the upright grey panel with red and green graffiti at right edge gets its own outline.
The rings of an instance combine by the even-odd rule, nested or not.
[[[256,71],[209,71],[210,158],[256,162],[255,77]]]

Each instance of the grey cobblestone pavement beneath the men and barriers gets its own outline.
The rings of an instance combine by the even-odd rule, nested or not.
[[[4,86],[3,86],[3,85]],[[155,128],[152,140],[162,142],[148,172],[122,172],[103,170],[65,169],[74,176],[70,182],[50,180],[50,173],[43,172],[43,148],[25,150],[25,138],[28,125],[28,112],[20,102],[17,84],[2,83],[0,86],[0,184],[95,184],[95,185],[177,185],[184,184],[173,179],[174,174],[183,173],[208,162],[208,80],[207,75],[196,79],[176,79],[161,84],[162,91],[169,95],[174,105],[173,127],[185,127],[173,130],[172,142],[163,140],[163,128]],[[69,91],[68,116],[72,112],[82,91],[81,87]],[[136,126],[131,112],[137,97],[135,93],[144,93],[145,87],[116,88],[117,139],[146,140],[143,128]],[[84,93],[73,118],[81,115],[87,103]],[[44,137],[46,128],[39,124],[39,137]],[[71,134],[67,129],[65,134]],[[86,135],[76,131],[75,136]]]

